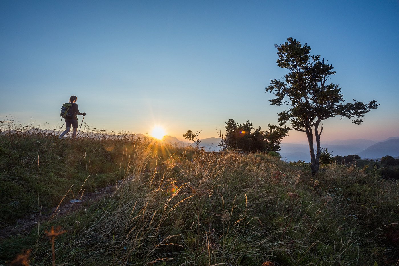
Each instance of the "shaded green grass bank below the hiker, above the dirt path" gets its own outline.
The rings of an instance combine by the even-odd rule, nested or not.
[[[93,192],[114,184],[124,175],[124,153],[132,145],[38,134],[4,134],[0,142],[0,225],[48,210],[83,189]]]

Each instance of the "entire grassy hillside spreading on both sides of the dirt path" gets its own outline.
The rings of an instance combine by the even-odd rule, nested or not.
[[[332,164],[310,175],[306,164],[265,154],[128,139],[2,135],[0,142],[3,227],[15,228],[17,219],[56,206],[64,195],[65,201],[117,184],[87,209],[38,216],[31,231],[3,238],[0,263],[30,249],[30,265],[51,265],[45,232],[51,226],[67,230],[54,237],[57,265],[395,265],[399,259],[399,186],[377,171]]]

